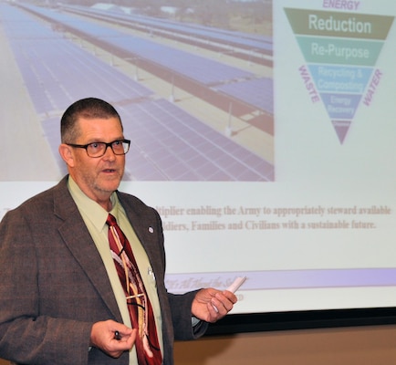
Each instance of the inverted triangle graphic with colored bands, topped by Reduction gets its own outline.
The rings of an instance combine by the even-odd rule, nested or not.
[[[394,16],[294,8],[285,13],[342,144]]]

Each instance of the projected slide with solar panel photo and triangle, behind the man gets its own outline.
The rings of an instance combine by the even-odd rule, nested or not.
[[[246,276],[234,313],[395,307],[396,2],[80,3],[0,4],[0,216],[67,173],[60,116],[99,97],[169,291]]]

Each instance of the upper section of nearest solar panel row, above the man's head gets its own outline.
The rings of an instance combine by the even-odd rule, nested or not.
[[[15,37],[15,26],[8,26],[10,23],[5,22],[5,29],[38,114],[65,110],[74,100],[89,96],[119,103],[152,94],[51,29],[29,21],[19,26]],[[19,21],[17,24],[21,25]]]

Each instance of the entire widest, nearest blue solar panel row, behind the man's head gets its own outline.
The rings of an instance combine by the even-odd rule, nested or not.
[[[120,111],[132,141],[126,180],[273,181],[272,164],[24,11],[0,5],[0,20],[62,172],[60,114],[77,99],[97,97]]]

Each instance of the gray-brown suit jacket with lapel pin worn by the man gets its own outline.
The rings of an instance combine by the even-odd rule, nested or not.
[[[192,328],[194,292],[167,293],[159,214],[118,193],[151,261],[162,310],[163,364],[173,363],[173,339],[201,336]],[[153,233],[149,227],[153,228]],[[121,322],[106,269],[67,188],[57,186],[5,214],[0,224],[0,358],[21,364],[128,364],[89,350],[94,322]]]

